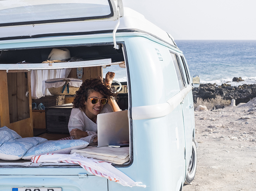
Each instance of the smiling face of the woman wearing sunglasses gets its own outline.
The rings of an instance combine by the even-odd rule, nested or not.
[[[104,98],[104,95],[102,95],[101,93],[97,92],[97,91],[92,91],[88,98]],[[85,105],[85,114],[89,119],[92,119],[94,117],[96,117],[98,114],[100,114],[103,105],[100,103],[100,101],[98,101],[98,103],[96,103],[95,105],[93,105],[91,103],[90,99],[87,99],[86,102],[84,103]]]

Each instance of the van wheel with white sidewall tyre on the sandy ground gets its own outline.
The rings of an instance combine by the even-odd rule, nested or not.
[[[186,176],[186,180],[185,180],[184,184],[189,184],[193,181],[193,179],[195,177],[196,164],[197,164],[197,150],[196,150],[195,140],[193,138],[192,154],[190,157],[189,166],[187,168],[187,176]]]

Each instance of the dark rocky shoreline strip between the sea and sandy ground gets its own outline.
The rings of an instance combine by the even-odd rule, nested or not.
[[[236,105],[239,103],[247,103],[251,99],[256,97],[256,84],[243,84],[239,86],[231,86],[230,84],[217,85],[216,83],[211,84],[200,84],[198,88],[192,90],[194,103],[197,98],[203,100],[215,99],[217,96],[221,96],[222,99],[232,100],[235,99]]]

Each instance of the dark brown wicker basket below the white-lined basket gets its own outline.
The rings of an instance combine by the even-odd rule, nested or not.
[[[43,103],[45,107],[58,106],[65,104],[65,95],[45,96],[39,99],[32,99],[33,102],[37,105]]]

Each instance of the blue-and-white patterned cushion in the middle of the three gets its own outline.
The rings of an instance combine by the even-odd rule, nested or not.
[[[0,146],[0,159],[6,161],[19,160],[32,147],[47,141],[41,137],[10,139]]]

